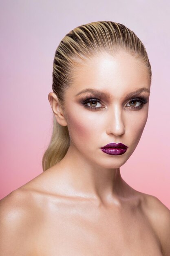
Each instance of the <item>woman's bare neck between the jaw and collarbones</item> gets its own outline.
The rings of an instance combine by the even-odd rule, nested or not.
[[[119,204],[127,188],[120,168],[96,166],[71,146],[64,158],[53,167],[56,174],[63,177],[69,195],[93,199],[99,205]]]

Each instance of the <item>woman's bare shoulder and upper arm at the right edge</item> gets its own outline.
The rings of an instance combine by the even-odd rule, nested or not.
[[[170,256],[170,210],[157,197],[144,194],[143,209],[155,230],[163,256]]]

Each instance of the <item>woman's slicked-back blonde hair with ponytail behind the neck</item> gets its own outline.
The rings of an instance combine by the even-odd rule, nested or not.
[[[93,58],[100,52],[116,54],[120,49],[140,58],[152,79],[148,54],[141,40],[126,26],[113,21],[98,21],[81,25],[71,30],[58,45],[53,61],[53,92],[64,110],[64,93],[73,83],[73,70],[79,63]],[[61,126],[53,116],[53,133],[48,148],[42,157],[46,171],[66,155],[70,145],[67,126]]]

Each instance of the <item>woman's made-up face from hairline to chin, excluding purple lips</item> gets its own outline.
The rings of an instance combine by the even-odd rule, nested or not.
[[[145,65],[124,51],[115,57],[103,53],[77,66],[73,74],[65,95],[70,147],[95,165],[122,166],[139,143],[148,118],[150,81]],[[122,155],[108,155],[101,147],[109,143],[128,148]]]

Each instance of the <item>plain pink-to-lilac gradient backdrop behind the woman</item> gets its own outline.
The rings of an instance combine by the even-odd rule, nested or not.
[[[152,66],[149,115],[121,175],[170,209],[170,3],[159,0],[0,1],[0,198],[42,173],[53,112],[55,50],[73,28],[122,23],[144,43]]]

